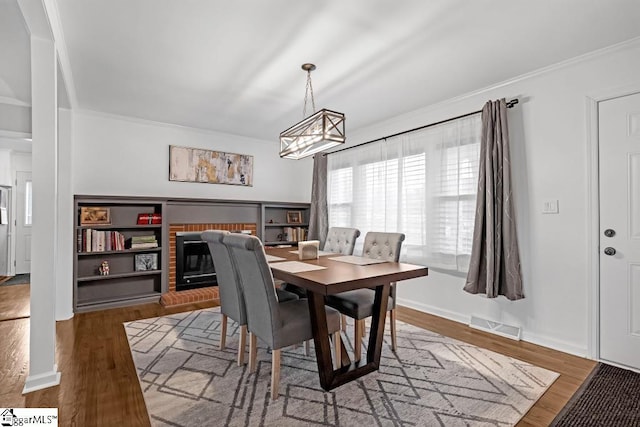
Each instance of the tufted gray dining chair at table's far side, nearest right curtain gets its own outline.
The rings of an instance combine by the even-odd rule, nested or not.
[[[400,259],[400,249],[404,241],[403,233],[384,233],[370,231],[364,238],[362,256],[366,258],[383,259],[397,262]],[[329,295],[326,304],[335,308],[343,315],[355,320],[353,351],[355,360],[360,360],[362,353],[362,338],[364,336],[364,321],[373,314],[375,291],[373,289],[356,289]],[[390,311],[389,324],[391,326],[391,349],[395,352],[396,340],[396,286],[391,284],[387,310]],[[344,324],[344,322],[343,322]]]

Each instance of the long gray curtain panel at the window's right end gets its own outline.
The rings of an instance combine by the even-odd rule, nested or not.
[[[504,99],[489,101],[482,109],[476,220],[464,290],[488,298],[524,298]]]

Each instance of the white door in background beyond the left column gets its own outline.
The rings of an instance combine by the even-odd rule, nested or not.
[[[31,172],[17,172],[16,274],[31,272]]]

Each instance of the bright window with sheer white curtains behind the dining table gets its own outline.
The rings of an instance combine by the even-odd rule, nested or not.
[[[402,232],[401,259],[466,272],[480,155],[480,114],[334,153],[329,225]],[[356,242],[361,253],[364,239]]]

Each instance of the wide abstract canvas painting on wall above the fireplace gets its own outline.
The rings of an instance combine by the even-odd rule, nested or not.
[[[169,181],[253,186],[253,156],[169,146]]]

